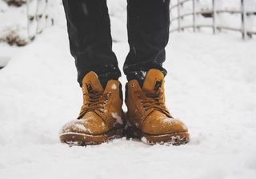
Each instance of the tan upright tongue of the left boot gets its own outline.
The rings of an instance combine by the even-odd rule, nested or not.
[[[102,84],[98,80],[95,72],[90,71],[82,80],[82,86],[88,93],[101,93],[103,92]]]

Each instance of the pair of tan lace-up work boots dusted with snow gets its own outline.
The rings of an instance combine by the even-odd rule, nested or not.
[[[79,117],[62,127],[62,142],[96,145],[124,135],[139,137],[150,145],[190,141],[186,126],[166,109],[164,75],[159,70],[147,72],[142,88],[137,80],[126,84],[126,114],[122,110],[122,86],[117,80],[107,82],[104,90],[97,74],[90,72],[83,78],[82,92]]]

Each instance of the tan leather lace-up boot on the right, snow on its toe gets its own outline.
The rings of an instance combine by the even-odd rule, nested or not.
[[[166,109],[164,75],[160,70],[147,72],[142,89],[137,80],[130,80],[126,90],[128,137],[140,137],[151,145],[180,145],[190,141],[186,125]]]

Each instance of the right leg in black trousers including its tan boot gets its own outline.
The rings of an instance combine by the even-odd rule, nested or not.
[[[174,119],[165,104],[162,63],[169,38],[170,0],[128,0],[130,52],[124,71],[128,137],[139,137],[154,145],[163,142],[186,144],[190,134],[186,125]]]

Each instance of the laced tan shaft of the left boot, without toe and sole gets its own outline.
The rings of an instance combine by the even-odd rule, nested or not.
[[[103,89],[97,74],[90,72],[82,81],[83,105],[78,118],[88,111],[97,113],[108,121],[113,116],[122,116],[122,85],[110,80]]]

